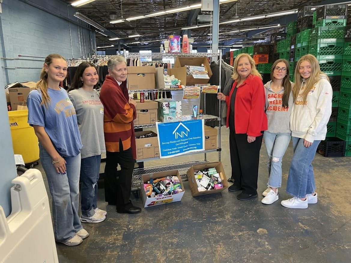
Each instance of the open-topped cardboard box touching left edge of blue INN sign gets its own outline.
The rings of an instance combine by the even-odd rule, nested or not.
[[[135,131],[135,137],[152,133],[153,137],[135,139],[137,160],[160,157],[157,134],[151,130]]]

